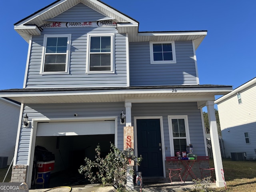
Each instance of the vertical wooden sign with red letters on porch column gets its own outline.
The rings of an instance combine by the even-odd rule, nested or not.
[[[134,151],[133,127],[124,127],[124,150],[131,148]],[[129,166],[134,166],[134,160],[129,159]]]

